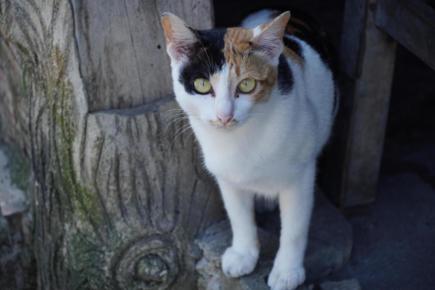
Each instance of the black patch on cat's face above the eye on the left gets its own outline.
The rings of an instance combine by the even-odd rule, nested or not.
[[[210,80],[213,73],[222,70],[225,63],[224,35],[227,29],[194,30],[194,33],[198,41],[187,55],[188,60],[181,66],[178,78],[184,90],[191,95],[197,94],[193,86],[195,79]]]

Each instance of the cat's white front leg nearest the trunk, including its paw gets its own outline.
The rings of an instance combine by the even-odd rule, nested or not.
[[[260,243],[254,217],[254,195],[218,179],[233,231],[231,247],[222,255],[222,271],[230,277],[251,273],[258,260]]]

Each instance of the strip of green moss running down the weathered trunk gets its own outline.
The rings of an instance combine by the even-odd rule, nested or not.
[[[50,51],[50,66],[46,68],[44,90],[47,104],[50,109],[52,122],[55,123],[55,132],[51,134],[53,142],[56,142],[56,154],[58,163],[51,164],[54,170],[60,202],[63,206],[70,204],[71,209],[65,210],[68,223],[74,223],[74,233],[67,233],[68,253],[71,257],[69,289],[77,289],[86,285],[86,288],[95,288],[92,285],[104,285],[106,281],[100,281],[104,277],[100,273],[105,267],[105,254],[101,251],[101,243],[115,242],[116,240],[104,240],[102,233],[106,230],[100,202],[97,194],[89,187],[83,185],[78,179],[74,166],[75,138],[77,136],[77,112],[74,111],[74,90],[67,78],[66,62],[59,47]],[[54,149],[54,147],[53,147]],[[54,161],[54,158],[52,158]],[[76,233],[75,231],[80,232]],[[110,231],[109,231],[110,233]],[[95,288],[97,289],[97,288]]]

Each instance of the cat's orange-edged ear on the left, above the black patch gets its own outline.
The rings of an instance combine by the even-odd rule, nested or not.
[[[163,13],[162,25],[166,34],[166,50],[172,60],[180,62],[187,54],[193,53],[194,44],[198,41],[195,30],[169,12]]]

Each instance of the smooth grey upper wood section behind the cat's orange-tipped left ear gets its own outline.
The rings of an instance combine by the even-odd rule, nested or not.
[[[213,26],[208,0],[71,2],[91,112],[139,106],[172,91],[163,12],[178,14],[194,28]]]

